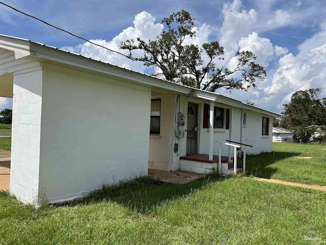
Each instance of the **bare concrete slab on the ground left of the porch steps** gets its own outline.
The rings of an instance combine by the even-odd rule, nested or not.
[[[204,177],[201,174],[188,173],[183,171],[162,171],[157,169],[148,169],[148,177],[153,180],[159,180],[162,182],[168,182],[173,184],[186,184],[196,179]]]

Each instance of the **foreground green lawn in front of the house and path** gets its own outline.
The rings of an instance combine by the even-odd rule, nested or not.
[[[326,240],[326,192],[252,179],[147,178],[68,206],[0,192],[0,244],[308,244]]]

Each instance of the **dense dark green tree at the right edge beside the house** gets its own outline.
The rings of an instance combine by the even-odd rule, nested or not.
[[[326,97],[318,99],[320,93],[321,88],[300,90],[284,105],[280,126],[293,129],[300,142],[310,141],[317,128],[326,125]],[[320,127],[309,127],[313,125]]]

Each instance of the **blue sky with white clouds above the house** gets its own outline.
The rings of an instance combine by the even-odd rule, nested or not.
[[[274,112],[284,111],[298,90],[322,88],[326,97],[326,1],[233,0],[105,1],[105,0],[0,0],[54,26],[112,50],[138,36],[153,40],[163,30],[161,19],[182,9],[195,18],[198,45],[219,41],[224,61],[231,67],[234,54],[252,51],[267,70],[264,81],[249,91],[215,92]],[[128,60],[86,43],[35,19],[0,5],[0,34],[30,39],[96,60],[146,73],[142,62]],[[122,51],[125,52],[125,51]],[[137,53],[136,53],[137,55]],[[232,59],[233,58],[233,59]],[[0,88],[1,89],[1,88]],[[0,97],[0,110],[12,108],[12,99]]]

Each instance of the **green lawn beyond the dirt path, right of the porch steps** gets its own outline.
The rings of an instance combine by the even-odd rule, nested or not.
[[[247,157],[247,171],[260,178],[326,185],[326,145],[274,142],[273,152]]]

